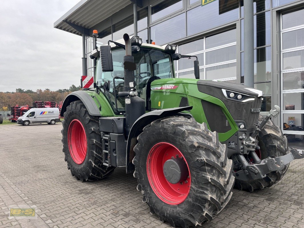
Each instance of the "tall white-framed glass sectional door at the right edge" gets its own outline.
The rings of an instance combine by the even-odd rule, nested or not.
[[[304,149],[304,9],[281,14],[281,127],[289,147]]]

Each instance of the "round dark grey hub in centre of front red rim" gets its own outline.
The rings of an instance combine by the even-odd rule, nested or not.
[[[188,167],[182,158],[169,159],[163,167],[164,175],[171,184],[185,181],[188,177]]]

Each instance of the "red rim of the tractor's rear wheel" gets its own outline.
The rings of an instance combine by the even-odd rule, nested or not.
[[[81,164],[87,154],[87,136],[78,119],[73,119],[67,131],[67,144],[73,161]]]

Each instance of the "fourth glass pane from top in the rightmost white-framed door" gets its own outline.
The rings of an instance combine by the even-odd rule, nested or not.
[[[283,89],[304,89],[304,71],[284,73]]]

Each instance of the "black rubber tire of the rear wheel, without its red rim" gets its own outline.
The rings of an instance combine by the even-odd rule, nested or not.
[[[87,151],[85,159],[81,164],[77,164],[71,157],[68,146],[68,128],[74,120],[80,121],[85,130],[87,141]],[[67,169],[71,170],[71,175],[77,180],[94,181],[105,178],[113,173],[115,167],[107,167],[102,162],[101,133],[99,131],[98,117],[91,116],[85,105],[81,101],[71,102],[64,112],[62,121],[62,143],[64,160],[67,162]]]

